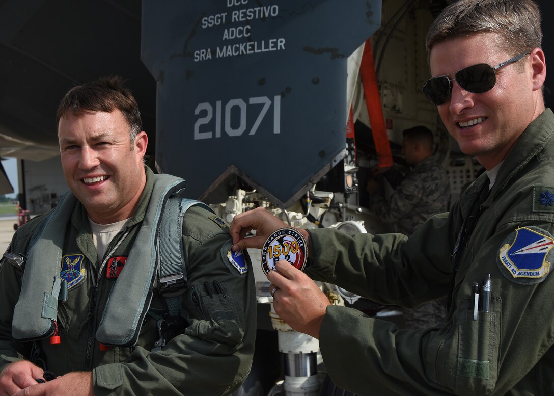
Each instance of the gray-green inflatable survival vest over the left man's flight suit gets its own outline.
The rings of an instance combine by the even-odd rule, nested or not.
[[[158,273],[158,288],[168,313],[179,315],[181,295],[187,288],[181,238],[183,215],[194,205],[212,211],[202,202],[179,196],[186,187],[183,179],[171,175],[154,177],[150,203],[128,258],[141,270],[121,270],[96,331],[96,339],[106,346],[129,347],[137,342]],[[64,242],[64,232],[60,230],[70,221],[76,203],[73,193],[66,192],[29,243],[22,290],[12,321],[12,336],[16,339],[34,341],[55,332],[58,300],[67,287],[59,276]]]

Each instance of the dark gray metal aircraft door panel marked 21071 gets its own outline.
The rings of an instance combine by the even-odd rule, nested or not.
[[[344,155],[347,57],[380,22],[380,0],[143,0],[158,167],[192,198],[242,179],[290,206]]]

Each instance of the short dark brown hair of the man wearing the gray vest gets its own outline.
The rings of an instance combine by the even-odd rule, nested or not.
[[[142,131],[139,106],[131,90],[123,86],[124,80],[117,76],[101,77],[96,81],[71,88],[56,112],[56,124],[68,113],[80,115],[86,111],[121,111],[129,124],[131,144]],[[132,146],[131,146],[132,147]]]

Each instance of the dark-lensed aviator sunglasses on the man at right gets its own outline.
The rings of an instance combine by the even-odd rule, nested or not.
[[[448,78],[448,75],[452,74],[430,78],[423,83],[422,91],[425,97],[435,106],[446,103],[450,93],[452,93],[452,82],[454,79],[461,88],[468,92],[474,94],[487,92],[493,89],[494,84],[496,84],[496,70],[507,64],[517,62],[529,53],[530,51],[524,52],[494,67],[486,63],[468,66],[458,70],[458,72],[452,73],[454,78]]]

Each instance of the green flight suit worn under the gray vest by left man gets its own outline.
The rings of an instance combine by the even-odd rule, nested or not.
[[[107,252],[126,230],[130,233],[109,257],[129,256],[152,193],[154,175],[150,169],[146,174],[136,213],[110,242]],[[41,217],[20,227],[9,251],[24,254],[40,221]],[[228,226],[201,207],[193,206],[185,213],[182,241],[189,285],[182,299],[181,316],[186,319],[186,327],[161,351],[151,352],[160,339],[157,321],[167,312],[155,287],[136,346],[101,351],[95,332],[117,280],[116,268],[106,265],[99,273],[101,263],[96,258],[86,211],[78,204],[65,230],[63,255],[84,255],[81,268],[86,269],[86,275],[69,289],[67,301],[58,304],[61,343],[39,341],[47,368],[56,375],[92,370],[95,395],[224,395],[237,388],[249,373],[254,352],[256,299],[252,270],[241,274],[229,263],[226,251],[222,251],[224,245],[227,249],[230,246]],[[0,369],[29,359],[32,345],[18,342],[11,333],[20,290],[20,276],[14,268],[6,261],[0,266]],[[214,281],[224,293],[218,292]]]

